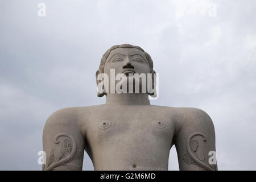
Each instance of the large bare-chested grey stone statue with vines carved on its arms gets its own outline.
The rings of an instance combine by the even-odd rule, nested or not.
[[[111,90],[112,78],[100,77],[104,73],[121,75],[121,93]],[[168,170],[173,145],[180,170],[217,170],[214,126],[208,114],[150,105],[155,76],[147,77],[152,84],[146,92],[142,78],[137,79],[137,92],[133,88],[134,75],[142,73],[155,75],[152,59],[141,47],[122,44],[106,51],[96,72],[98,96],[106,96],[106,104],[68,107],[49,116],[43,130],[43,170],[81,170],[84,151],[95,170]],[[126,84],[126,78],[132,81]]]

